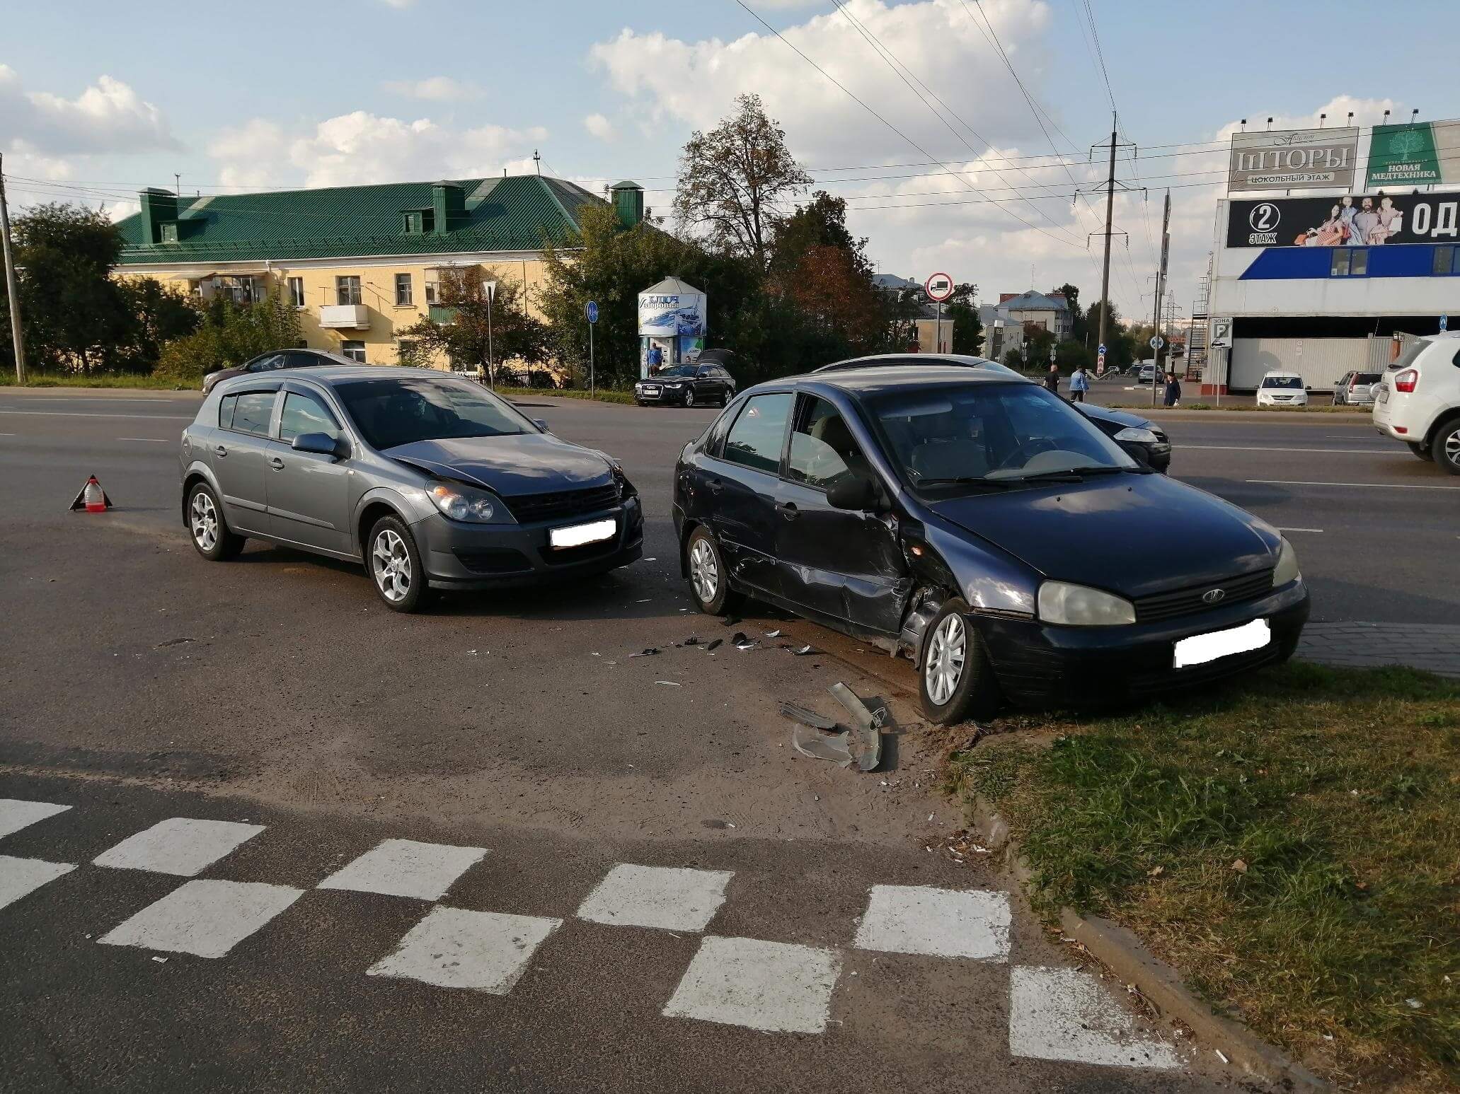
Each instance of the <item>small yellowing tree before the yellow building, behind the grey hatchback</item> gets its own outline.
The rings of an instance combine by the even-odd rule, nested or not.
[[[488,303],[486,282],[496,282]],[[437,290],[439,318],[418,319],[400,331],[409,347],[407,359],[444,353],[454,365],[488,371],[496,382],[496,369],[505,360],[536,365],[548,356],[548,328],[527,311],[523,283],[491,267],[457,267],[441,271]]]

